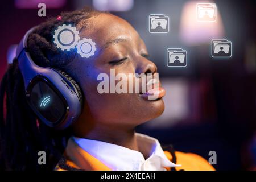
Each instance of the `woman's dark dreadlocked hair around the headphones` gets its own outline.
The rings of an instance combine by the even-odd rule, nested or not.
[[[61,69],[69,75],[68,65],[77,55],[75,51],[60,51],[53,44],[52,33],[64,23],[72,23],[79,31],[88,28],[88,19],[100,11],[85,7],[61,13],[40,24],[28,36],[28,51],[35,64]],[[70,129],[57,131],[41,123],[28,106],[24,82],[14,59],[2,78],[0,87],[0,169],[52,170],[61,159]],[[38,164],[38,152],[46,151],[47,165]]]

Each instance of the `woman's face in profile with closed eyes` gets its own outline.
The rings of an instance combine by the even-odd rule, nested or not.
[[[84,58],[78,56],[71,64],[85,97],[82,115],[90,115],[96,124],[137,126],[163,113],[164,90],[155,100],[148,100],[139,93],[98,93],[102,80],[97,77],[110,69],[118,73],[156,73],[156,65],[147,59],[147,49],[137,31],[125,20],[111,14],[90,18],[86,30],[80,29],[80,37],[96,43],[96,53]],[[140,78],[128,78],[130,79]],[[115,81],[117,84],[119,81]],[[110,84],[109,84],[110,90]],[[89,118],[88,118],[89,119]],[[86,122],[86,121],[85,121]]]

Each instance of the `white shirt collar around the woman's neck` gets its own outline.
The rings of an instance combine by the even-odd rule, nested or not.
[[[164,167],[180,166],[168,160],[157,139],[139,133],[135,133],[135,136],[139,148],[150,154],[146,160],[141,152],[116,144],[77,137],[73,139],[83,150],[112,170],[165,170]]]

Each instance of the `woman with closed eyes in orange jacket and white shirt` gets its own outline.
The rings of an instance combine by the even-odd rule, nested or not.
[[[53,32],[64,23],[73,24],[80,38],[92,39],[97,53],[84,58],[74,50],[57,48]],[[2,169],[214,169],[200,156],[163,151],[158,140],[135,133],[137,125],[163,113],[164,89],[159,89],[154,100],[143,94],[97,92],[97,76],[110,75],[110,69],[125,75],[157,73],[143,40],[125,20],[88,8],[63,13],[36,27],[28,37],[28,52],[40,67],[61,69],[76,80],[84,105],[79,119],[68,129],[44,125],[27,104],[18,60],[14,59],[1,83]],[[39,151],[46,151],[46,165],[38,164]]]

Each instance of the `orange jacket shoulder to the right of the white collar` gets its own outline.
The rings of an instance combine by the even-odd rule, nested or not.
[[[169,160],[173,159],[171,152],[164,151]],[[214,167],[207,160],[197,154],[175,151],[176,164],[181,164],[176,167],[176,170],[184,169],[185,171],[215,171]]]

